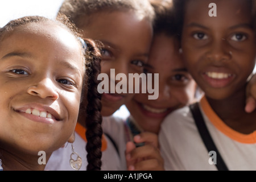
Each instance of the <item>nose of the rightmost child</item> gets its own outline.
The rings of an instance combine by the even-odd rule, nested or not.
[[[232,58],[229,44],[225,39],[216,40],[210,46],[210,51],[207,53],[209,60],[226,61]]]

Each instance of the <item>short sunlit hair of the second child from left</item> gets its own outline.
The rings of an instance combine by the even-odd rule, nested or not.
[[[148,0],[65,0],[59,12],[81,28],[90,23],[90,17],[101,11],[128,11],[142,15],[153,22],[154,10]]]

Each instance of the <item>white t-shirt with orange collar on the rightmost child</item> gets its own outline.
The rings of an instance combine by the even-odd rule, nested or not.
[[[209,133],[230,171],[256,170],[256,131],[241,134],[214,113],[208,101],[200,101]],[[159,133],[160,152],[166,170],[217,170],[195,125],[189,107],[164,119]]]

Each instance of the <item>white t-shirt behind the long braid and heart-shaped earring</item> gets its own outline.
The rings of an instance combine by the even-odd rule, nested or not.
[[[103,144],[104,142],[104,144]],[[102,151],[102,171],[118,171],[120,167],[120,159],[113,143],[105,136],[105,140],[102,142],[102,146],[106,146],[105,150]],[[75,152],[79,154],[82,158],[82,166],[80,171],[86,171],[87,167],[87,152],[85,150],[86,142],[82,137],[76,132],[75,142],[73,142],[73,147]],[[46,169],[49,171],[73,171],[74,169],[70,166],[69,160],[71,159],[72,147],[71,143],[66,143],[65,147],[59,148],[54,151],[46,164]],[[76,160],[77,156],[73,155],[72,159]]]

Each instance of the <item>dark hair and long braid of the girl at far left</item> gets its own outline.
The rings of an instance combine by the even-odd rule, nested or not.
[[[67,16],[57,14],[56,20],[44,18],[43,16],[24,16],[23,18],[12,20],[5,27],[0,29],[0,43],[6,36],[15,31],[16,27],[26,26],[30,23],[53,22],[71,32],[77,41],[81,44],[81,51],[85,58],[85,77],[82,88],[82,98],[87,93],[86,105],[82,105],[86,109],[86,138],[88,143],[86,151],[88,152],[88,169],[97,170],[101,167],[101,136],[102,136],[102,117],[101,117],[101,95],[97,91],[98,80],[97,76],[100,73],[100,44],[97,44],[92,39],[84,39],[85,44],[82,44],[82,34],[75,24],[71,23]],[[83,48],[83,47],[86,47]],[[88,107],[87,107],[88,104]],[[80,106],[81,109],[81,106]]]

